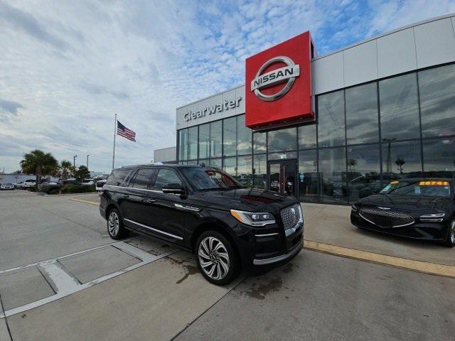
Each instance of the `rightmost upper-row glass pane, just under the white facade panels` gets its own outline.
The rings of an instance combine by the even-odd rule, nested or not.
[[[455,65],[419,72],[422,136],[455,134]]]

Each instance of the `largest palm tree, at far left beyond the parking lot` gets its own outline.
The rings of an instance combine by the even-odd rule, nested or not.
[[[44,153],[35,149],[30,153],[23,154],[21,168],[24,173],[36,175],[36,185],[43,175],[55,174],[58,170],[58,162],[50,153]]]

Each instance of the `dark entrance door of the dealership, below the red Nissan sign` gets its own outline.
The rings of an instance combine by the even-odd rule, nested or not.
[[[295,197],[296,177],[295,160],[269,161],[269,190]]]

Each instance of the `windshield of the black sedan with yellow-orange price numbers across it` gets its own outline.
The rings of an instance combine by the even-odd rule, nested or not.
[[[392,181],[380,191],[390,195],[424,195],[429,197],[449,197],[450,185],[447,181]]]

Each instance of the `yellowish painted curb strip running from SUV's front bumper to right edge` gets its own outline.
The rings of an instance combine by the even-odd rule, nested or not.
[[[429,263],[427,261],[414,261],[386,254],[375,254],[374,252],[349,249],[347,247],[337,247],[336,245],[313,242],[304,240],[304,249],[319,251],[325,254],[333,254],[360,261],[370,261],[371,263],[395,266],[401,269],[421,272],[423,274],[437,275],[455,278],[455,266]]]

